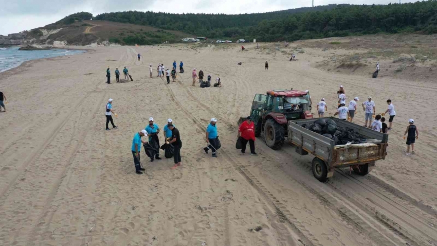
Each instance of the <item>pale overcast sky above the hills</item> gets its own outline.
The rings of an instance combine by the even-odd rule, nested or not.
[[[20,32],[56,22],[76,12],[97,15],[125,10],[172,13],[257,13],[311,7],[312,0],[0,0],[0,34]],[[389,4],[399,0],[314,0],[314,5]],[[415,2],[402,0],[402,3]]]

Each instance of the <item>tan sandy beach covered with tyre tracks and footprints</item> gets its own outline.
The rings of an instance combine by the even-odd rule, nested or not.
[[[315,66],[326,59],[320,48],[288,61],[282,52],[245,47],[93,47],[1,73],[9,103],[0,113],[0,245],[437,245],[435,81],[322,71]],[[175,60],[185,68],[177,82],[149,77],[149,64],[156,71]],[[128,67],[134,81],[112,76],[106,84],[108,66],[112,75]],[[213,81],[220,76],[223,87],[191,86],[193,68]],[[293,146],[275,151],[257,138],[258,156],[234,148],[237,121],[255,94],[309,90],[315,117],[322,97],[333,116],[340,84],[347,101],[360,98],[358,106],[372,96],[377,113],[387,99],[396,107],[386,160],[366,177],[340,169],[320,183],[313,156]],[[119,128],[105,131],[108,98]],[[173,119],[182,167],[171,170],[173,159],[150,162],[141,150],[147,171],[135,174],[132,138],[149,117],[160,128]],[[202,150],[212,117],[218,158]],[[420,135],[416,154],[406,156],[409,118]],[[354,122],[364,124],[361,107]]]

